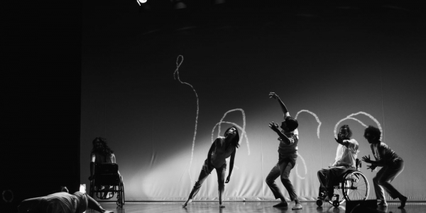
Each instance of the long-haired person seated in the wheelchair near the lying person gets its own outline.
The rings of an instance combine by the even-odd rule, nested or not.
[[[94,165],[95,163],[116,163],[116,158],[114,155],[114,151],[109,148],[107,144],[107,139],[102,137],[94,138],[92,141],[93,148],[90,153],[90,157],[92,160],[90,161],[90,177],[89,180],[93,180],[94,178]],[[120,175],[120,172],[119,172]],[[120,175],[121,177],[121,175]],[[122,177],[121,177],[122,178]],[[109,190],[112,186],[104,186],[105,191]],[[107,197],[108,196],[108,197]],[[104,193],[103,199],[109,199],[111,193]]]

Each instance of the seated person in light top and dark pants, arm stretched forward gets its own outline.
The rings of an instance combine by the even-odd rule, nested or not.
[[[337,138],[334,138],[337,146],[336,160],[332,166],[318,171],[320,180],[320,192],[318,199],[331,200],[334,192],[334,185],[338,178],[347,170],[356,169],[356,157],[358,155],[358,142],[351,139],[352,131],[348,125],[340,126]]]

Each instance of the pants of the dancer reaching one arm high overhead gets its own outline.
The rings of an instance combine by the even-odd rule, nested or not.
[[[277,163],[272,168],[271,172],[269,172],[268,177],[266,177],[266,184],[271,189],[273,196],[275,196],[275,199],[284,197],[280,191],[280,188],[278,188],[278,185],[276,185],[275,183],[275,179],[277,179],[278,177],[280,177],[281,182],[283,182],[285,189],[288,191],[288,195],[290,195],[290,200],[297,199],[295,188],[288,179],[288,176],[290,175],[290,170],[292,168],[293,164],[290,163],[288,160],[284,160],[282,163]]]

